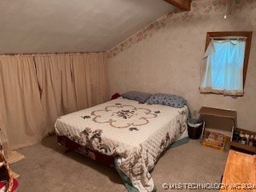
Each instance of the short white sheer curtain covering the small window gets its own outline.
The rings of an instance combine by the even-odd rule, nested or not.
[[[200,92],[243,95],[246,40],[214,40],[206,49]]]

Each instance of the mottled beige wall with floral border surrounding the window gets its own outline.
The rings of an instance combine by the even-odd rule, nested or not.
[[[109,50],[110,94],[127,90],[180,94],[201,106],[238,111],[238,126],[256,130],[256,1],[192,2],[186,13],[167,14]],[[200,65],[208,31],[252,30],[245,94],[200,94]]]

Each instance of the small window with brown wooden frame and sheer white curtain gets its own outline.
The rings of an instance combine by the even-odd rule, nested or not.
[[[243,95],[252,32],[208,32],[201,93]]]

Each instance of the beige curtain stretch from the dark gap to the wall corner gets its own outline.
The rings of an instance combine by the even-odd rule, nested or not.
[[[106,54],[45,54],[34,61],[48,132],[62,114],[108,100]]]

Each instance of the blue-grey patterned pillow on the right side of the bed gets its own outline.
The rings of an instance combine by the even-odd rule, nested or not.
[[[154,94],[146,100],[146,103],[182,108],[186,105],[186,99],[174,94]]]

